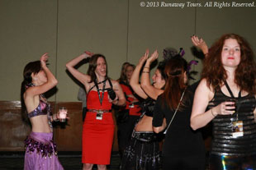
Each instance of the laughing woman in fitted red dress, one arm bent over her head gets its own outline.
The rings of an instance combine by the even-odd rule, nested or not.
[[[85,58],[89,58],[88,74],[74,68]],[[110,164],[111,146],[114,136],[114,121],[111,105],[124,105],[125,96],[116,80],[107,76],[106,57],[102,54],[86,52],[66,64],[70,73],[87,91],[87,108],[83,122],[83,170],[92,169],[97,164],[100,170],[107,169]]]

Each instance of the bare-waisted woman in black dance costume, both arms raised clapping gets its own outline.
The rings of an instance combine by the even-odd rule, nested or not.
[[[160,168],[159,138],[153,132],[152,119],[155,99],[163,93],[164,63],[160,62],[154,76],[153,85],[149,80],[149,67],[159,56],[157,51],[149,57],[149,50],[140,58],[138,65],[133,72],[130,85],[141,98],[145,99],[142,104],[142,115],[139,122],[135,125],[129,145],[126,146],[121,160],[122,170],[158,170]],[[145,64],[145,67],[143,65]],[[143,68],[140,79],[140,70]]]

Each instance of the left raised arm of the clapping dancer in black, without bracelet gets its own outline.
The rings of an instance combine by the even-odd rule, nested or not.
[[[130,86],[135,91],[136,94],[138,94],[141,98],[146,99],[148,96],[145,94],[144,90],[140,87],[140,69],[143,67],[143,64],[149,57],[149,49],[146,50],[145,55],[140,57],[140,61],[138,65],[135,67],[135,70],[132,73],[132,76],[130,78]]]

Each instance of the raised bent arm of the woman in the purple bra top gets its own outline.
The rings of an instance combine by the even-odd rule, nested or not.
[[[36,85],[36,86],[33,86],[33,87],[27,89],[26,93],[25,93],[26,96],[35,96],[35,95],[38,95],[38,94],[44,94],[46,91],[52,89],[53,87],[55,87],[55,85],[58,84],[58,80],[51,73],[50,69],[46,66],[46,62],[48,60],[48,57],[49,57],[48,53],[44,53],[40,57],[40,64],[41,64],[41,67],[42,67],[43,71],[45,71],[47,81],[43,85]],[[33,74],[34,73],[32,73],[32,76],[36,76],[36,75],[33,75]]]

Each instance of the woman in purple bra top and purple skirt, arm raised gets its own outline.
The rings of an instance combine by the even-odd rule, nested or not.
[[[25,140],[26,154],[24,169],[64,169],[57,158],[56,145],[53,142],[51,122],[58,120],[52,115],[50,104],[43,94],[55,87],[58,81],[46,67],[48,53],[40,61],[29,62],[23,71],[21,85],[21,106],[31,122],[31,134]]]

